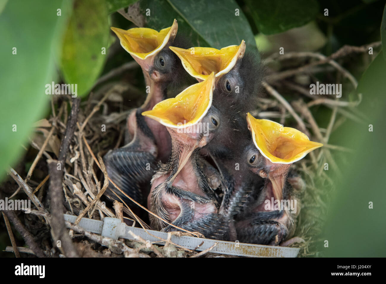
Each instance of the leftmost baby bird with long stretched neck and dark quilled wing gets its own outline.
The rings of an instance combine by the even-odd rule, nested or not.
[[[122,47],[141,66],[149,93],[143,105],[132,110],[127,119],[131,141],[122,148],[110,150],[104,156],[104,161],[108,176],[117,186],[135,201],[144,203],[146,199],[143,195],[147,196],[150,190],[150,180],[157,162],[168,161],[171,138],[164,125],[141,113],[164,100],[168,85],[182,73],[178,71],[182,70],[178,58],[169,49],[172,43],[178,44],[175,41],[178,24],[174,20],[171,27],[159,32],[148,28],[111,29],[117,34]],[[111,184],[110,189],[119,194]],[[130,203],[123,194],[119,195]],[[133,203],[130,205],[134,206]]]

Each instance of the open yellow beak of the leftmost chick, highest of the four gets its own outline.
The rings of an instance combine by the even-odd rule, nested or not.
[[[131,56],[139,59],[146,59],[149,56],[157,54],[163,49],[168,41],[174,40],[177,34],[178,24],[174,19],[171,27],[157,32],[149,28],[132,28],[122,30],[111,27],[118,36],[121,46],[130,53]]]

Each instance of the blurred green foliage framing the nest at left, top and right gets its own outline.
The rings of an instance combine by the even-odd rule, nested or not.
[[[134,24],[117,12],[132,4]],[[386,44],[385,13],[383,0],[0,0],[0,179],[20,160],[32,124],[50,114],[47,83],[76,83],[85,100],[100,76],[132,60],[115,42],[110,26],[159,30],[176,18],[179,33],[194,46],[221,48],[244,39],[259,48],[262,58],[279,47],[329,56],[344,45]],[[386,256],[386,54],[370,58],[367,64],[345,66],[359,81],[345,99],[362,93],[358,109],[366,116],[345,123],[330,137],[354,151],[336,159],[342,178],[335,180],[331,194],[336,196],[330,198],[320,236],[328,240],[328,247],[320,243],[325,256]],[[135,72],[135,85],[142,88],[142,74]],[[322,125],[330,117],[325,114],[323,108],[313,113]],[[5,245],[10,242],[3,231],[0,250]]]

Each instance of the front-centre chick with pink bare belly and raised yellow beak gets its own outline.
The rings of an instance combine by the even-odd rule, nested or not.
[[[212,73],[176,98],[164,100],[142,114],[165,125],[172,139],[169,162],[161,164],[152,178],[148,207],[175,226],[222,238],[223,224],[214,192],[221,187],[221,177],[198,155],[198,149],[210,142],[221,124],[220,114],[212,106],[214,84]],[[149,217],[152,228],[176,230]]]

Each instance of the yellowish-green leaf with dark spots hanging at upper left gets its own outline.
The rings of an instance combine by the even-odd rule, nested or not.
[[[61,71],[66,84],[86,95],[102,71],[108,47],[107,8],[103,0],[77,0],[64,35]]]

